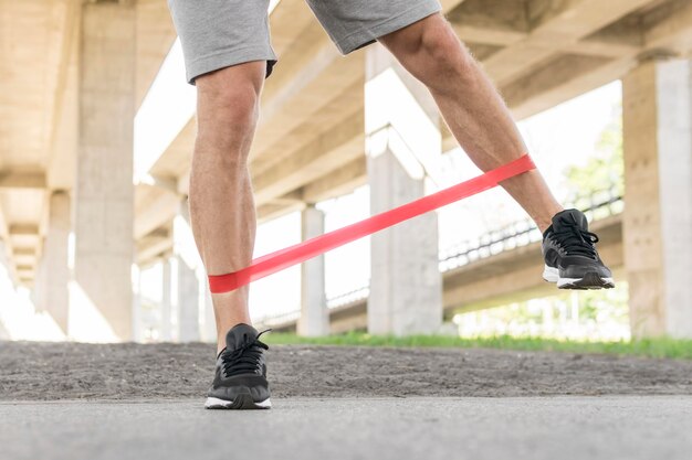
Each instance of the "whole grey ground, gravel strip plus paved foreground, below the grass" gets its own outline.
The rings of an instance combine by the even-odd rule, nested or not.
[[[213,345],[0,342],[0,460],[685,459],[692,362],[272,346],[274,408],[203,409]]]

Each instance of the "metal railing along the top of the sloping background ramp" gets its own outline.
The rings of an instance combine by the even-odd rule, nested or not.
[[[599,221],[620,214],[625,207],[621,191],[608,189],[588,195],[577,195],[567,200],[566,207],[575,207],[586,214],[589,222]],[[440,271],[445,272],[454,268],[484,259],[506,250],[527,246],[541,240],[542,234],[530,218],[524,218],[492,231],[475,239],[464,240],[440,252]],[[363,301],[370,293],[369,284],[352,291],[339,293],[327,299],[327,308],[333,309],[348,303]],[[259,321],[265,325],[280,324],[297,320],[301,311],[268,315]]]

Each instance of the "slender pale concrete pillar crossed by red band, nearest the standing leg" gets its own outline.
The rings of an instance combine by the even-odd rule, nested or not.
[[[324,213],[314,204],[303,210],[301,216],[303,240],[324,233]],[[298,334],[321,336],[329,334],[329,311],[325,295],[324,256],[315,257],[301,267],[301,318]]]

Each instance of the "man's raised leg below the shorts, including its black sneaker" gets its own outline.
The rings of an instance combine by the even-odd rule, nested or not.
[[[487,171],[527,152],[500,94],[440,14],[380,42],[428,86],[452,133],[479,168]],[[546,281],[562,289],[615,287],[586,216],[577,210],[563,211],[538,171],[508,179],[502,186],[543,232]]]

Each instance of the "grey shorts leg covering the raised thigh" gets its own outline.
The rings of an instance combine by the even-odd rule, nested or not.
[[[306,0],[343,54],[441,10],[438,0]]]

